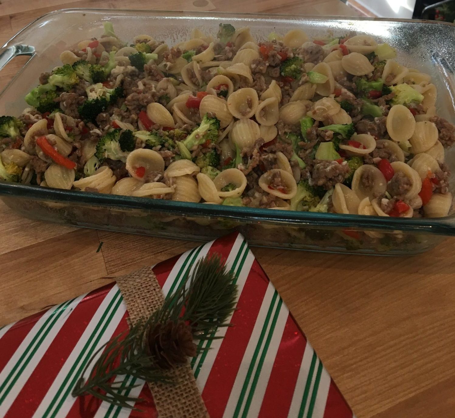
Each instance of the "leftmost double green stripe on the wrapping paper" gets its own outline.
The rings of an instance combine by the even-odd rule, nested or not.
[[[27,367],[27,365],[30,363],[30,360],[33,358],[35,353],[38,351],[40,348],[41,344],[51,331],[51,329],[54,327],[58,319],[61,317],[63,312],[65,312],[66,308],[73,302],[75,299],[71,299],[68,302],[62,303],[56,309],[49,315],[49,317],[46,318],[44,324],[40,327],[38,332],[36,332],[35,336],[31,340],[30,344],[25,348],[24,353],[20,356],[19,360],[17,363],[15,363],[14,367],[11,369],[10,373],[8,373],[8,376],[5,378],[5,381],[1,384],[0,386],[0,393],[5,389],[6,385],[11,382],[8,385],[8,387],[5,389],[5,392],[2,394],[0,397],[0,405],[1,403],[5,400],[5,398],[8,396],[8,394],[11,391],[11,388],[15,385],[17,380],[20,378],[20,375],[23,373],[24,369]],[[49,327],[48,327],[49,325]],[[36,345],[35,345],[36,342]],[[35,345],[35,347],[34,347]],[[18,370],[19,369],[19,370]],[[18,370],[17,374],[14,376],[16,370]],[[14,378],[13,378],[14,376]]]

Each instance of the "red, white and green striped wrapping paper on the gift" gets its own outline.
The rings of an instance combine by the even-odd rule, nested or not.
[[[235,272],[239,296],[233,327],[191,362],[212,418],[352,418],[353,413],[306,341],[278,292],[237,233],[153,267],[165,295],[207,253],[219,252]],[[76,297],[0,329],[0,418],[157,417],[152,394],[129,376],[124,393],[142,412],[113,407],[71,389],[98,347],[127,329],[116,284]],[[182,417],[175,417],[182,418]]]

